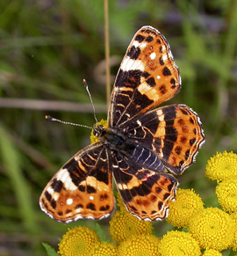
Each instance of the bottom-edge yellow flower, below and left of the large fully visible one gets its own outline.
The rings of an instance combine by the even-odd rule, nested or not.
[[[199,245],[190,233],[177,230],[169,231],[163,236],[158,250],[161,256],[201,255]]]

